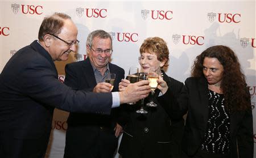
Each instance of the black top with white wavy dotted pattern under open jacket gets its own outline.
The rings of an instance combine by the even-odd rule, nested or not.
[[[224,106],[224,95],[209,89],[209,118],[201,149],[209,153],[228,153],[230,112]]]

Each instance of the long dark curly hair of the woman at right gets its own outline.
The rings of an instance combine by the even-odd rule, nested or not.
[[[237,55],[228,46],[212,46],[198,55],[192,66],[191,76],[201,77],[203,74],[204,58],[217,58],[224,67],[220,88],[224,93],[226,107],[232,112],[250,109],[250,95],[246,88],[245,75]]]

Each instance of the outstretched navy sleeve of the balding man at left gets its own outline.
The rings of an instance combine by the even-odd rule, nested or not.
[[[61,83],[48,61],[32,61],[21,74],[24,95],[68,112],[110,114],[111,93],[74,91]]]

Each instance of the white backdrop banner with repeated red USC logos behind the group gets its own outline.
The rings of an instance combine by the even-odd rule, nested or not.
[[[88,33],[104,29],[113,37],[112,63],[127,72],[139,66],[139,47],[147,37],[162,37],[170,49],[166,72],[184,82],[203,50],[226,45],[236,52],[246,75],[254,115],[256,157],[255,1],[0,1],[0,72],[13,54],[37,39],[45,16],[64,12],[79,29],[77,53],[55,62],[59,80],[67,63],[86,58]],[[63,157],[68,112],[55,110],[46,157]],[[119,157],[116,155],[115,157]]]

